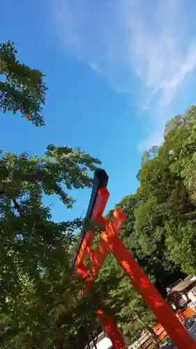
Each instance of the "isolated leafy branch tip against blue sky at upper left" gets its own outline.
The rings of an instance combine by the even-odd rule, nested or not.
[[[0,44],[0,108],[3,112],[17,111],[36,126],[44,124],[40,112],[45,104],[45,83],[43,73],[20,64],[16,59],[14,43]]]

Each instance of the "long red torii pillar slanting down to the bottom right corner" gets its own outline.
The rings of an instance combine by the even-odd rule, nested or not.
[[[120,210],[114,211],[114,216],[116,216],[116,224],[118,224],[119,219],[123,219],[123,214]],[[131,283],[133,283],[136,290],[142,295],[146,304],[150,306],[156,318],[174,341],[176,347],[179,349],[196,349],[196,342],[192,336],[188,334],[169,304],[163,299],[158,290],[156,290],[146,274],[144,274],[133,258],[133,255],[130,254],[126,247],[123,246],[119,237],[116,236],[114,223],[112,224],[111,222],[107,226],[106,232],[101,233],[101,239],[108,244],[110,251],[112,251],[114,257],[118,260],[119,265],[128,274]]]

